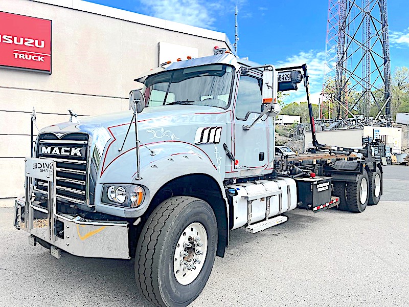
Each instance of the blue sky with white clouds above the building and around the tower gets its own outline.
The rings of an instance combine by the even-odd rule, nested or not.
[[[224,32],[234,42],[236,0],[87,0]],[[238,55],[276,66],[309,67],[313,99],[322,89],[328,0],[237,0]],[[388,1],[391,67],[409,67],[409,2]],[[297,100],[303,94],[291,95]]]

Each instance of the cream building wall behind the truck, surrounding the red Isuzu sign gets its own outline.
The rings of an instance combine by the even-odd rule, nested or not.
[[[126,110],[129,91],[140,86],[133,79],[158,65],[158,42],[197,48],[199,56],[230,46],[220,32],[79,0],[0,0],[0,8],[53,21],[51,75],[0,68],[0,198],[23,192],[33,107],[40,129],[67,121],[68,108],[79,119]]]

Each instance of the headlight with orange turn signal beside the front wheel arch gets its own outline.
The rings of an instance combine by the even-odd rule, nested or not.
[[[120,207],[138,208],[144,197],[144,189],[137,185],[104,185],[101,202]]]

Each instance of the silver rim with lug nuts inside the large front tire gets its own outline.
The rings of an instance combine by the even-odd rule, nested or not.
[[[186,286],[199,275],[208,251],[208,235],[200,223],[192,223],[180,234],[173,256],[173,273]]]

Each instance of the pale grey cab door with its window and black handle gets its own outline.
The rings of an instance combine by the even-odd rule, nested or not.
[[[252,72],[240,74],[233,117],[234,137],[232,148],[235,157],[233,172],[252,169],[251,174],[257,174],[267,167],[267,117],[258,120],[250,130],[243,129],[243,125],[251,125],[261,113],[261,89],[261,75]]]

